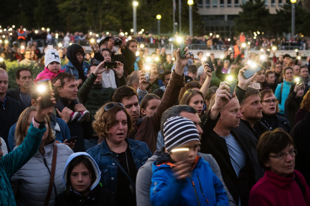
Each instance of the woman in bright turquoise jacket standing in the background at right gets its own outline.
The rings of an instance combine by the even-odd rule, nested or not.
[[[282,83],[278,84],[274,95],[278,99],[279,113],[284,116],[285,100],[289,96],[290,87],[293,84],[293,69],[292,67],[286,67],[284,69],[285,79]]]

